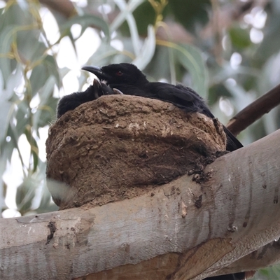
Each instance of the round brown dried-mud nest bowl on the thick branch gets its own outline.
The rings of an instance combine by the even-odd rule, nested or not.
[[[46,174],[66,183],[50,192],[59,209],[131,198],[203,170],[225,142],[221,124],[200,113],[143,97],[100,97],[50,127]]]

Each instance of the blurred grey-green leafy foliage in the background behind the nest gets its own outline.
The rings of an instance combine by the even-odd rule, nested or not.
[[[2,211],[7,209],[4,199],[8,190],[12,191],[14,179],[13,174],[8,178],[5,174],[14,161],[22,167],[15,170],[21,181],[13,188],[20,214],[57,209],[46,188],[46,162],[38,144],[45,141],[40,139],[41,132],[55,121],[62,81],[70,71],[57,65],[59,46],[65,38],[69,48],[77,51],[85,31],[94,29],[100,43],[95,50],[97,43],[88,40],[94,51],[87,64],[132,62],[150,80],[189,85],[209,100],[214,115],[223,123],[279,83],[279,1],[69,3],[76,5],[72,18],[65,18],[62,9],[50,10],[59,27],[59,37],[50,43],[39,1],[0,1]],[[78,36],[72,29],[77,25]],[[121,46],[115,47],[113,41]],[[80,90],[87,73],[77,79]],[[272,110],[239,139],[246,145],[264,137],[280,127],[279,117],[279,109]]]

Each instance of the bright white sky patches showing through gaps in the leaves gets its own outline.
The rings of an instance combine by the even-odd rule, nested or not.
[[[0,1],[0,7],[4,6],[4,1]],[[78,1],[78,5],[86,6],[87,1]],[[104,4],[103,12],[110,13],[110,6]],[[59,29],[57,27],[57,22],[53,17],[52,13],[48,10],[48,8],[41,8],[40,10],[41,16],[43,18],[43,28],[47,34],[48,40],[50,43],[55,43],[59,38]],[[253,43],[260,43],[263,38],[262,27],[265,25],[265,21],[267,18],[267,14],[260,7],[255,7],[251,10],[251,13],[244,17],[244,22],[247,25],[252,25],[250,37]],[[73,25],[71,28],[71,32],[73,34],[73,38],[77,38],[80,34],[81,27],[80,25]],[[111,45],[118,49],[123,49],[123,43],[119,40],[114,39],[116,34],[113,34]],[[93,44],[88,44],[88,41],[94,41]],[[99,47],[100,38],[96,31],[92,28],[87,28],[83,34],[76,41],[76,50],[77,56],[73,50],[73,46],[71,45],[70,39],[64,37],[59,45],[53,48],[54,52],[57,52],[57,64],[59,68],[67,67],[70,69],[69,73],[63,78],[62,83],[63,87],[61,90],[55,90],[55,95],[57,97],[62,97],[65,94],[70,94],[71,92],[75,92],[78,90],[78,77],[82,74],[80,71],[81,67],[84,66],[90,56],[93,54],[95,50]],[[223,40],[223,48],[226,48],[226,38]],[[242,62],[242,57],[238,52],[234,52],[230,59],[230,65],[232,69],[237,69]],[[165,78],[165,77],[163,77]],[[92,83],[92,77],[87,80],[87,83],[83,86],[83,89],[88,87],[90,83]],[[231,85],[235,85],[236,82],[234,79],[228,79],[228,83]],[[32,100],[34,102],[34,106],[38,103],[38,100]],[[233,113],[232,104],[230,104],[228,99],[221,98],[219,102],[219,107],[223,113],[227,116],[231,116]],[[43,127],[39,130],[40,139],[38,139],[38,148],[39,148],[39,157],[41,160],[45,161],[45,140],[48,137],[48,127]],[[29,161],[29,148],[25,148],[29,146],[27,139],[22,135],[19,140],[19,146],[22,151],[22,157],[26,165],[28,165]],[[9,218],[13,216],[20,216],[20,213],[15,209],[15,193],[16,188],[22,182],[22,165],[18,157],[18,152],[14,151],[11,164],[8,164],[8,168],[6,169],[5,174],[3,174],[3,180],[8,185],[7,195],[6,195],[6,205],[9,209],[3,211],[3,218]]]

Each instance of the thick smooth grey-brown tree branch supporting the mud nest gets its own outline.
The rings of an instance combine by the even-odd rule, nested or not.
[[[182,176],[102,207],[1,219],[0,279],[202,279],[234,265],[280,237],[279,139],[218,158],[201,185]]]

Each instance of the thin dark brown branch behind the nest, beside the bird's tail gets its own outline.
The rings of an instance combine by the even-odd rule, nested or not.
[[[228,123],[228,130],[237,136],[242,130],[254,123],[255,120],[258,120],[279,104],[280,84],[237,113]]]

